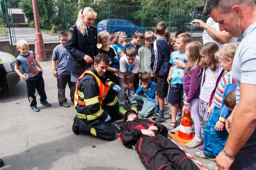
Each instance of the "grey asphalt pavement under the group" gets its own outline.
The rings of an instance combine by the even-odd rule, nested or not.
[[[75,135],[72,132],[75,111],[69,89],[66,88],[66,97],[71,107],[59,106],[57,80],[52,74],[51,62],[40,64],[47,101],[52,107],[42,106],[36,92],[41,111],[33,112],[24,80],[0,96],[0,158],[5,162],[0,170],[145,169],[136,151],[123,146],[117,135],[112,141],[87,134]],[[165,105],[165,115],[169,111],[170,104]],[[168,126],[170,117],[165,117],[167,120],[163,125]],[[183,148],[195,157],[195,149]],[[196,159],[204,166],[211,163],[208,159]]]

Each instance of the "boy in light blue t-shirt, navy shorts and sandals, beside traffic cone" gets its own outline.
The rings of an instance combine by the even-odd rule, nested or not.
[[[185,54],[186,45],[191,42],[191,35],[189,33],[182,33],[176,38],[177,50],[171,54],[171,67],[167,78],[170,84],[168,102],[171,103],[172,121],[168,126],[169,130],[176,128],[176,116],[181,103],[183,107],[183,75],[184,68],[188,62]]]

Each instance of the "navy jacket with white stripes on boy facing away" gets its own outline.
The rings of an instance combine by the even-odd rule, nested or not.
[[[151,44],[151,71],[153,74],[168,75],[171,64],[170,45],[164,37],[157,38]]]

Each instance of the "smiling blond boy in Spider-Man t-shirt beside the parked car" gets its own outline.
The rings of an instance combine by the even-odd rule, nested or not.
[[[20,54],[16,58],[15,71],[19,77],[27,83],[28,100],[30,107],[34,112],[39,112],[40,109],[37,107],[37,99],[35,98],[35,89],[37,89],[40,96],[40,103],[46,107],[52,106],[47,102],[47,97],[44,90],[44,79],[42,76],[43,69],[35,59],[33,51],[29,51],[28,43],[26,40],[18,40],[16,49],[20,51]],[[19,66],[23,67],[25,76],[19,71]],[[38,69],[39,68],[39,69]]]

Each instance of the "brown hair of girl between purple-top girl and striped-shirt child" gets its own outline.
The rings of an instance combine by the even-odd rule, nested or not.
[[[215,53],[218,51],[219,47],[216,43],[206,43],[201,47],[200,52],[209,57],[210,63],[207,64],[203,61],[200,62],[200,67],[205,68],[210,66],[211,71],[216,71],[219,65],[218,60],[214,58]]]

